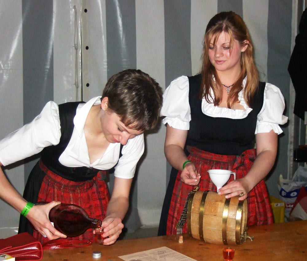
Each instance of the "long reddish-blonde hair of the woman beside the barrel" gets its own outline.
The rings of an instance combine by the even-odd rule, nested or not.
[[[218,37],[223,32],[230,36],[230,54],[235,40],[237,40],[241,46],[247,45],[247,49],[241,54],[241,72],[239,78],[232,86],[227,97],[227,107],[231,108],[235,101],[238,100],[238,94],[243,88],[242,82],[245,77],[247,77],[247,82],[243,90],[243,97],[247,105],[251,107],[255,93],[258,90],[259,81],[258,71],[253,58],[253,45],[243,19],[232,11],[216,14],[207,25],[202,55],[202,82],[198,98],[205,98],[207,102],[211,103],[209,99],[209,97],[211,97],[215,106],[219,105],[222,101],[222,88],[218,87],[222,86],[222,84],[216,74],[214,66],[209,60],[208,50],[210,42],[213,40],[213,44],[215,45]],[[214,98],[210,94],[210,88],[213,90]]]

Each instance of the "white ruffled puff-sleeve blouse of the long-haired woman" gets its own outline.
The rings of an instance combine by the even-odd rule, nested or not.
[[[243,88],[246,79],[243,80]],[[163,106],[161,116],[165,116],[162,120],[163,124],[168,124],[175,129],[188,130],[191,121],[191,111],[188,101],[189,80],[187,76],[181,76],[173,80],[163,94]],[[212,97],[213,97],[212,93]],[[228,108],[220,108],[208,103],[202,99],[202,112],[210,117],[223,117],[230,119],[243,119],[252,111],[246,104],[243,97],[243,90],[239,93],[240,105],[245,110],[233,110]],[[282,133],[279,125],[283,125],[288,121],[288,117],[283,115],[285,109],[285,101],[281,91],[273,84],[266,83],[264,91],[263,106],[257,116],[257,125],[255,134],[261,132]]]

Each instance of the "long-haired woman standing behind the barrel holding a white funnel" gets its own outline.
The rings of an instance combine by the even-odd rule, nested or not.
[[[159,235],[176,233],[187,195],[196,185],[216,191],[209,169],[236,173],[236,180],[231,177],[218,193],[247,199],[248,226],[273,222],[263,179],[275,162],[279,124],[287,121],[284,109],[280,90],[258,80],[242,18],[231,11],[216,14],[206,28],[201,73],[175,79],[163,95],[164,149],[173,169]]]

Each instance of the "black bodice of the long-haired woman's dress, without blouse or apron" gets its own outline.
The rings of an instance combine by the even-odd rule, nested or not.
[[[243,119],[210,117],[201,110],[202,100],[197,98],[201,74],[188,77],[189,104],[191,108],[190,129],[186,145],[220,155],[240,155],[254,148],[257,116],[263,105],[265,82],[259,82],[253,109]]]

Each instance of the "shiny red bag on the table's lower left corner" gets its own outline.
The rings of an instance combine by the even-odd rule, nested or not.
[[[16,261],[37,261],[43,258],[41,242],[28,232],[0,239],[0,254],[15,257]]]

